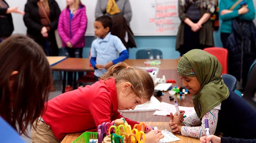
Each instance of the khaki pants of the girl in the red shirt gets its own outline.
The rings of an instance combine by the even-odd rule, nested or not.
[[[34,128],[32,128],[32,143],[60,143],[49,125],[46,125],[41,120],[36,120],[33,123]]]

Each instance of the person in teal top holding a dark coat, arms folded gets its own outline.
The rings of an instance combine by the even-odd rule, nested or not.
[[[222,20],[220,37],[223,47],[228,50],[228,73],[235,76],[238,89],[242,89],[256,58],[253,0],[220,0],[219,11]]]

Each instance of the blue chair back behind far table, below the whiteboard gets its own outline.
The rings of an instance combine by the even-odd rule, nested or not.
[[[136,59],[163,59],[163,53],[159,49],[142,49],[136,52]]]

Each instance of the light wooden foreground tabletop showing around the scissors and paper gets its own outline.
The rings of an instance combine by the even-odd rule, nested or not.
[[[157,126],[159,130],[169,130],[169,122],[144,122],[144,123],[148,123],[149,125]],[[65,138],[61,141],[61,143],[72,143],[76,138],[79,137],[79,135],[81,135],[83,132],[79,132],[79,133],[71,133],[65,136]],[[198,138],[191,138],[191,137],[186,137],[183,135],[179,135],[179,134],[175,134],[178,138],[180,138],[180,140],[178,141],[174,141],[171,143],[200,143],[200,140]]]

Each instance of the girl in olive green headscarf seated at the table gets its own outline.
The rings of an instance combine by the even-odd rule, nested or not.
[[[200,138],[206,135],[207,118],[210,134],[256,138],[256,111],[227,88],[221,76],[222,66],[215,56],[204,50],[190,50],[180,58],[177,71],[183,86],[193,95],[196,113],[184,119],[184,111],[180,115],[170,113],[172,132]]]

